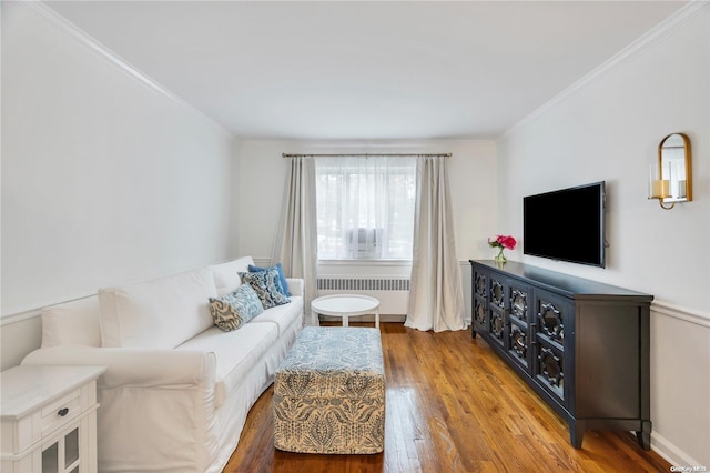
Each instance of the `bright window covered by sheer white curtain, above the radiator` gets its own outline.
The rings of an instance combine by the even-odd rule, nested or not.
[[[318,259],[410,260],[416,158],[317,158]]]

